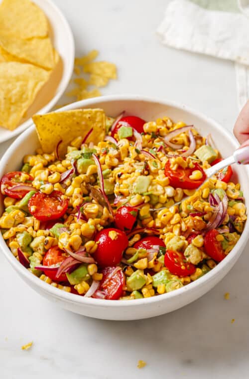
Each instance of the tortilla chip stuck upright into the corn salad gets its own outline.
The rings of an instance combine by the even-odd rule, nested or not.
[[[67,153],[67,146],[76,137],[82,139],[93,128],[87,142],[98,144],[105,137],[106,116],[103,109],[75,109],[52,112],[32,117],[42,150],[52,153],[58,147],[59,156]]]

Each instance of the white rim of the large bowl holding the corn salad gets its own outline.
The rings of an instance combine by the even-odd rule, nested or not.
[[[176,107],[182,110],[185,110],[189,113],[192,113],[194,116],[199,117],[206,123],[211,123],[216,129],[218,129],[221,134],[226,135],[226,137],[233,143],[235,148],[239,147],[239,143],[235,140],[232,133],[229,132],[227,129],[223,128],[218,122],[216,122],[214,119],[205,116],[203,113],[199,111],[195,111],[192,108],[174,102],[169,101],[166,99],[160,99],[157,97],[149,97],[149,96],[143,96],[143,95],[108,95],[108,96],[102,96],[97,98],[91,98],[87,100],[81,100],[78,102],[71,103],[69,105],[66,105],[60,109],[57,109],[56,112],[62,111],[62,110],[70,110],[70,109],[76,109],[80,107],[86,107],[86,106],[94,106],[96,103],[105,103],[110,101],[144,101],[144,102],[152,102],[152,103],[159,103],[161,105],[169,106],[169,107]],[[30,126],[27,130],[25,130],[23,133],[21,133],[20,136],[16,138],[16,140],[9,146],[7,151],[4,153],[0,160],[0,177],[4,174],[6,163],[9,161],[10,155],[13,154],[13,152],[19,147],[19,145],[22,144],[22,142],[29,137],[35,130],[35,126]],[[249,177],[249,167],[245,167],[247,171],[247,175]],[[22,276],[25,277],[27,281],[30,281],[34,286],[40,287],[44,292],[49,293],[53,297],[65,300],[69,303],[75,303],[77,305],[84,304],[86,306],[92,306],[92,307],[114,307],[114,308],[124,308],[124,307],[132,307],[132,306],[144,306],[147,304],[154,304],[160,301],[166,301],[167,299],[175,298],[175,297],[182,297],[186,293],[192,291],[192,289],[196,287],[204,287],[208,282],[211,282],[213,278],[217,275],[217,273],[222,270],[225,266],[229,266],[229,262],[233,261],[235,259],[235,256],[238,255],[238,257],[241,255],[245,239],[249,235],[249,222],[246,222],[243,234],[233,250],[229,253],[229,255],[221,261],[216,267],[214,267],[210,272],[208,272],[206,275],[202,276],[198,280],[189,283],[188,285],[179,288],[177,291],[172,291],[169,293],[162,294],[160,296],[152,296],[149,298],[143,298],[143,299],[134,299],[132,301],[130,300],[122,300],[122,301],[113,301],[113,300],[106,300],[106,299],[94,299],[94,298],[85,298],[84,296],[79,296],[76,294],[68,293],[65,291],[62,291],[56,287],[53,287],[35,275],[33,275],[31,272],[29,272],[25,267],[23,267],[18,260],[15,258],[15,256],[11,253],[10,249],[6,245],[2,235],[0,234],[0,248],[2,249],[4,256],[9,261],[9,263],[15,268],[15,270]]]

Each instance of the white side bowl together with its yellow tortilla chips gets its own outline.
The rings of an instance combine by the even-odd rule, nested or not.
[[[59,100],[74,66],[74,39],[50,0],[0,0],[0,142]]]

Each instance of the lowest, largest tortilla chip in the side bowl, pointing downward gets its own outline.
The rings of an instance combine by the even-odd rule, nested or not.
[[[0,126],[16,128],[49,74],[28,63],[0,63]]]

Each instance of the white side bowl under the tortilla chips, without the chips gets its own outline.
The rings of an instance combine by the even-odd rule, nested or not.
[[[51,29],[51,38],[52,38],[53,46],[58,51],[61,57],[61,63],[56,68],[62,71],[62,73],[60,73],[61,79],[54,92],[53,98],[47,104],[44,105],[44,103],[46,103],[44,102],[44,98],[46,98],[46,93],[53,89],[52,84],[50,84],[49,87],[46,87],[46,84],[45,84],[44,87],[39,91],[34,103],[31,105],[30,109],[28,110],[28,117],[29,116],[31,117],[31,115],[34,113],[39,113],[39,114],[47,113],[57,103],[57,101],[60,99],[65,89],[67,88],[69,80],[72,76],[73,68],[74,68],[74,56],[75,56],[73,34],[66,18],[64,17],[60,9],[57,8],[57,6],[51,0],[32,0],[32,1],[35,2],[44,11],[45,15],[47,16],[50,29]],[[1,3],[1,0],[0,0],[0,3]],[[53,73],[52,76],[54,79],[56,77],[56,73]],[[38,110],[37,106],[39,107],[39,104],[42,104],[42,107]],[[32,108],[34,107],[35,107],[34,112],[32,112]],[[16,136],[17,134],[20,134],[31,125],[32,125],[32,119],[29,118],[12,131],[0,127],[0,143],[3,141],[9,140],[10,138]]]

